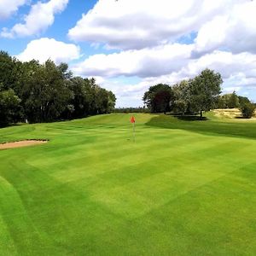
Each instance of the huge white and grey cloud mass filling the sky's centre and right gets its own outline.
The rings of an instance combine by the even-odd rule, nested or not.
[[[68,37],[119,52],[90,55],[73,70],[100,77],[122,102],[137,105],[148,86],[207,67],[222,74],[225,92],[246,94],[256,86],[255,14],[251,0],[99,0]],[[120,76],[140,82],[122,84]]]

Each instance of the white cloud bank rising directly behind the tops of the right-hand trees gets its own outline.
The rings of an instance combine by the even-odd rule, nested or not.
[[[250,53],[232,54],[215,50],[198,59],[190,59],[187,64],[168,75],[144,79],[148,84],[175,84],[182,79],[193,78],[206,67],[221,73],[224,79],[223,91],[256,89],[256,55]]]

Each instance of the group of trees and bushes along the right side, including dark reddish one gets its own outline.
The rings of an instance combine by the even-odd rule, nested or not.
[[[183,80],[172,86],[156,84],[144,93],[143,102],[153,113],[197,114],[214,108],[240,108],[245,118],[251,118],[255,105],[247,97],[220,95],[223,79],[220,73],[205,69],[194,79]]]

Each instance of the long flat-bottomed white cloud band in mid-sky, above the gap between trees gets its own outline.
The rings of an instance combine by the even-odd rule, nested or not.
[[[193,45],[166,44],[111,55],[91,55],[76,64],[73,70],[84,76],[156,77],[182,68],[189,60],[192,49]]]

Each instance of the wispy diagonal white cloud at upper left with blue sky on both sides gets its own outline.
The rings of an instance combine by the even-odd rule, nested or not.
[[[32,5],[30,13],[24,19],[24,23],[16,24],[10,30],[4,28],[1,36],[3,38],[16,38],[38,35],[53,24],[55,14],[61,13],[66,9],[67,3],[68,0],[50,0],[47,3],[38,2]]]

